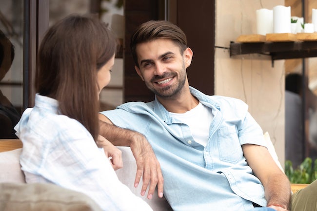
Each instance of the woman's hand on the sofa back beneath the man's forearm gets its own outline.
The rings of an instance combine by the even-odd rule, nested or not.
[[[122,168],[122,152],[116,146],[101,135],[98,136],[97,145],[102,147],[106,156],[110,158],[110,164],[115,171]]]

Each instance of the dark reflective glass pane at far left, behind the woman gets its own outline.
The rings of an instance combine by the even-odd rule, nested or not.
[[[23,0],[0,1],[0,138],[15,138],[23,111]]]

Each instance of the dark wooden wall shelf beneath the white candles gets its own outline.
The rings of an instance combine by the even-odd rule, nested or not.
[[[272,61],[317,57],[317,41],[230,42],[230,57],[244,54],[269,55]]]

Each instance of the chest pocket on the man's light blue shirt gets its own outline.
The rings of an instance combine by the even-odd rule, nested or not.
[[[241,159],[243,152],[236,126],[218,130],[218,151],[221,161],[236,163]]]

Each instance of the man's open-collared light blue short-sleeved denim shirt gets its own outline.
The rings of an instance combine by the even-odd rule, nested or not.
[[[248,211],[252,202],[266,206],[264,188],[241,148],[266,146],[248,106],[235,98],[190,90],[214,115],[206,147],[195,142],[188,125],[170,117],[157,99],[125,103],[101,114],[146,136],[160,162],[164,195],[174,211]]]

